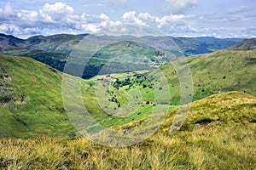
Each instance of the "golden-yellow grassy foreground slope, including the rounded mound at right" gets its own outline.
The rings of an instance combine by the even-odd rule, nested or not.
[[[172,124],[171,111],[158,133],[129,148],[101,146],[88,139],[1,140],[0,167],[254,169],[255,104],[253,96],[239,92],[198,100],[181,131],[163,134]],[[212,122],[195,127],[201,119]]]

